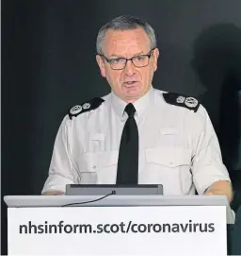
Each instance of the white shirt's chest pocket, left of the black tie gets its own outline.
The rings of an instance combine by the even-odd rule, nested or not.
[[[80,184],[114,184],[119,151],[88,152],[78,158]]]

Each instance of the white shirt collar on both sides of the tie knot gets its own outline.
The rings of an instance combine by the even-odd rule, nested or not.
[[[150,90],[144,94],[142,97],[137,99],[133,103],[135,109],[136,109],[136,116],[137,118],[140,118],[140,116],[144,113],[146,108],[151,104],[153,100],[153,86],[151,86]],[[113,110],[116,112],[118,116],[121,117],[121,119],[124,116],[124,108],[127,105],[125,101],[123,101],[119,96],[111,92],[111,106]]]

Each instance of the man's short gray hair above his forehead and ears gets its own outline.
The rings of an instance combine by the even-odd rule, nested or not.
[[[139,18],[134,16],[122,15],[114,18],[113,20],[106,23],[99,30],[97,40],[96,40],[96,51],[98,54],[103,54],[103,45],[105,33],[108,29],[114,30],[129,30],[135,29],[137,27],[142,27],[150,38],[152,49],[156,47],[156,39],[153,27],[148,23],[142,22]]]

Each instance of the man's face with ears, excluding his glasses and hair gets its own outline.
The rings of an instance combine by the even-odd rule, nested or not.
[[[149,54],[150,51],[150,39],[141,27],[123,31],[109,29],[105,33],[103,52],[107,59],[130,59],[134,56]],[[150,89],[153,73],[157,69],[158,55],[156,48],[147,66],[136,67],[129,60],[122,70],[113,70],[110,64],[100,56],[97,56],[97,62],[102,76],[106,77],[114,94],[126,102],[133,102]]]

